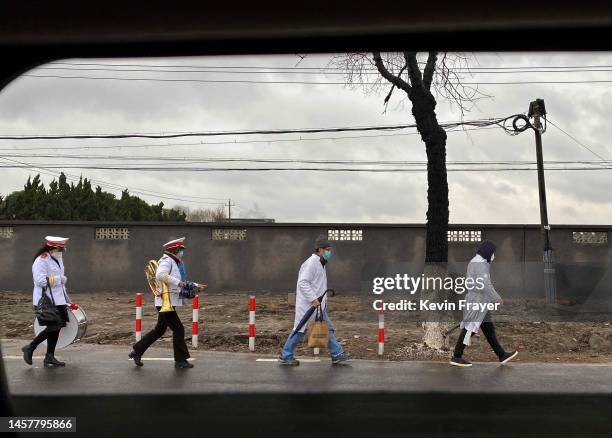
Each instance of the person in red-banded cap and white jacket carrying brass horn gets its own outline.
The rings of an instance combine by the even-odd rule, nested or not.
[[[202,290],[204,285],[187,281],[185,265],[183,264],[183,255],[185,252],[184,237],[166,242],[163,247],[164,254],[161,259],[159,259],[159,266],[155,273],[155,278],[157,281],[164,282],[168,285],[170,290],[170,304],[172,304],[174,310],[171,312],[159,312],[162,306],[162,298],[161,296],[155,297],[155,307],[158,311],[157,324],[153,330],[134,344],[133,351],[129,354],[129,357],[134,359],[134,363],[137,366],[142,366],[142,355],[155,341],[161,338],[166,332],[166,329],[170,327],[170,330],[172,330],[175,368],[193,368],[193,365],[187,362],[190,356],[187,344],[185,343],[185,327],[176,313],[176,307],[183,305],[182,289],[186,287],[192,289],[195,287],[198,290]]]

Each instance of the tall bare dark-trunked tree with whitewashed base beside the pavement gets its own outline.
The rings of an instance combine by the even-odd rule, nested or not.
[[[457,106],[463,117],[474,102],[486,97],[477,88],[462,84],[469,74],[469,57],[461,54],[428,52],[349,53],[334,56],[331,65],[345,73],[347,83],[367,93],[389,86],[385,111],[393,92],[401,90],[411,102],[417,131],[427,153],[427,237],[425,275],[443,276],[448,262],[448,181],[446,174],[446,132],[438,123],[439,98]],[[424,297],[438,301],[444,291],[424,291]],[[443,324],[436,318],[423,323],[424,344],[433,350],[445,349]],[[431,320],[433,319],[433,320]]]

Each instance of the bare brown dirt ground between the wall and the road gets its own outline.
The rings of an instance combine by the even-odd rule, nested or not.
[[[71,293],[87,313],[88,328],[81,342],[129,345],[134,342],[135,296],[125,293]],[[248,351],[247,295],[200,295],[199,349],[217,351]],[[330,299],[329,314],[341,344],[359,359],[377,358],[377,321],[363,317],[363,307],[354,296]],[[191,305],[179,310],[186,337],[191,339]],[[257,296],[256,352],[276,354],[293,325],[294,308],[286,294]],[[143,294],[143,332],[153,327],[156,311],[153,296]],[[31,294],[0,292],[0,337],[31,339],[34,313]],[[519,350],[522,362],[611,362],[612,325],[608,322],[529,322],[496,323],[497,334],[506,350]],[[385,324],[385,359],[387,360],[448,360],[448,354],[423,356],[422,329],[415,321],[393,315]],[[454,345],[458,331],[450,335]],[[171,332],[156,346],[171,348]],[[188,345],[191,346],[190,343]],[[312,354],[302,346],[299,355]],[[473,339],[465,357],[474,361],[495,361],[484,336]]]

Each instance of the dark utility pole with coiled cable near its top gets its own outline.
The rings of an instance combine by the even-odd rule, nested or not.
[[[546,206],[546,183],[544,181],[544,157],[542,153],[542,127],[541,118],[546,116],[546,107],[543,99],[536,99],[529,104],[528,117],[533,118],[532,127],[536,139],[536,159],[538,164],[538,190],[540,194],[540,224],[544,239],[544,293],[547,304],[557,302],[557,283],[555,277],[555,263],[553,249],[550,245],[550,225],[548,223],[548,208]]]

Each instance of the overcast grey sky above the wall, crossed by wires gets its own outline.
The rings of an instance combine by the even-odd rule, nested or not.
[[[150,65],[240,66],[240,67],[322,67],[329,56],[202,57],[131,60],[70,60]],[[584,54],[478,54],[472,60],[478,67],[590,66],[612,67],[609,53]],[[54,66],[57,68],[60,66]],[[89,66],[93,68],[95,66]],[[261,81],[342,81],[332,74],[306,75],[108,72],[35,70],[35,75],[95,76],[162,79],[232,79]],[[87,68],[80,66],[79,68]],[[127,69],[127,67],[125,68]],[[612,68],[608,69],[612,70]],[[247,70],[247,71],[253,71]],[[270,70],[265,70],[270,71]],[[306,71],[306,70],[300,70]],[[472,82],[611,80],[612,71],[574,73],[475,74]],[[491,95],[480,100],[466,120],[506,116],[524,112],[529,102],[543,98],[550,118],[558,126],[593,150],[612,160],[610,104],[612,83],[480,85]],[[320,128],[338,126],[391,125],[413,123],[410,103],[396,92],[388,110],[380,93],[343,85],[146,82],[22,77],[0,94],[0,132],[3,134],[69,134],[193,132],[268,128]],[[441,122],[460,119],[456,107],[441,100],[437,108]],[[401,131],[409,134],[413,129]],[[395,132],[397,134],[399,132]],[[179,138],[173,140],[87,140],[87,141],[7,141],[0,140],[0,156],[34,147],[80,149],[37,150],[30,153],[57,155],[87,154],[150,157],[232,157],[291,158],[316,160],[409,160],[426,159],[424,144],[417,135],[389,132],[316,134],[302,138],[331,136],[374,136],[338,140],[295,141],[300,135],[229,136]],[[384,136],[382,136],[384,135]],[[275,140],[262,142],[261,140]],[[293,141],[278,141],[278,140]],[[256,141],[244,143],[248,140]],[[204,142],[199,145],[178,143]],[[237,141],[236,144],[205,144]],[[549,125],[543,135],[544,158],[555,160],[598,160],[557,128]],[[158,144],[167,147],[94,149],[110,145]],[[89,147],[90,149],[85,149]],[[11,150],[15,149],[15,150]],[[11,159],[30,164],[111,163],[128,161],[67,160],[63,157]],[[501,129],[449,133],[449,161],[535,160],[533,132],[509,136]],[[3,164],[7,162],[4,161]],[[130,161],[138,164],[138,161]],[[158,163],[159,164],[159,163]],[[176,164],[174,164],[176,165]],[[266,163],[205,163],[204,167],[266,167]],[[287,164],[278,166],[287,167]],[[293,167],[309,165],[294,164]],[[310,165],[312,167],[312,165]],[[321,165],[323,166],[323,165]],[[327,165],[325,165],[327,166]],[[608,163],[610,166],[610,163]],[[338,166],[334,166],[338,167]],[[365,166],[374,167],[374,166]],[[392,166],[398,167],[398,166]],[[0,193],[23,187],[26,169],[0,169]],[[123,187],[163,192],[182,198],[177,201],[156,196],[139,196],[149,202],[164,201],[167,206],[193,208],[214,206],[231,198],[237,204],[233,216],[269,217],[279,222],[400,222],[425,221],[425,173],[364,172],[135,172],[127,170],[67,170],[94,180]],[[48,182],[51,176],[44,176]],[[535,171],[450,172],[450,220],[452,223],[537,223],[539,222],[537,175]],[[548,211],[551,223],[612,223],[612,170],[549,171],[546,174]],[[107,189],[119,193],[118,190]],[[189,200],[190,202],[187,202]]]

